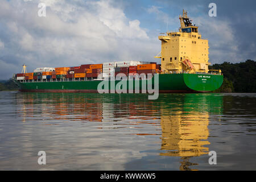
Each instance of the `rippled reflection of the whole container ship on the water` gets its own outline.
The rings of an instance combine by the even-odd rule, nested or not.
[[[179,157],[180,170],[190,170],[196,165],[191,158],[208,154],[209,117],[222,114],[223,107],[220,94],[160,94],[156,101],[147,100],[145,94],[16,93],[15,97],[20,105],[16,114],[23,122],[109,122],[109,127],[125,129],[123,135],[138,135],[138,140],[155,135],[160,139],[159,155]]]

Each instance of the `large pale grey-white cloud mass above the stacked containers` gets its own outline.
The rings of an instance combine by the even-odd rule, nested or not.
[[[46,17],[38,16],[41,1],[3,1],[0,39],[7,49],[1,60],[15,67],[72,66],[114,60],[152,60],[159,42],[147,35],[138,19],[129,19],[114,1],[43,1]],[[1,47],[1,43],[0,43]],[[150,54],[151,53],[151,54]]]

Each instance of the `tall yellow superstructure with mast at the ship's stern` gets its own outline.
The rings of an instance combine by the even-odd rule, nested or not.
[[[162,72],[168,73],[208,73],[208,40],[202,39],[198,27],[191,23],[187,11],[179,17],[179,32],[167,32],[159,36],[162,41],[161,59]]]

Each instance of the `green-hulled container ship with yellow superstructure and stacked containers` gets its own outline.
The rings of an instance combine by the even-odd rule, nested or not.
[[[179,20],[179,31],[167,31],[158,37],[162,45],[155,57],[161,59],[161,64],[113,61],[76,67],[36,68],[31,73],[27,73],[26,65],[23,65],[22,73],[14,74],[13,80],[21,92],[97,93],[102,80],[109,81],[109,85],[124,81],[123,77],[119,77],[120,73],[127,77],[127,90],[129,81],[133,81],[133,84],[138,81],[140,92],[143,81],[147,84],[151,81],[151,86],[155,86],[156,75],[159,78],[159,93],[210,92],[220,88],[223,82],[221,71],[208,69],[208,40],[202,39],[198,27],[188,18],[187,11],[183,10]]]

